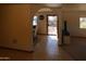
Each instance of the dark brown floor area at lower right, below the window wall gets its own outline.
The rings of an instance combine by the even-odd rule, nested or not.
[[[72,38],[71,44],[62,46],[62,49],[76,61],[86,61],[86,39]]]

